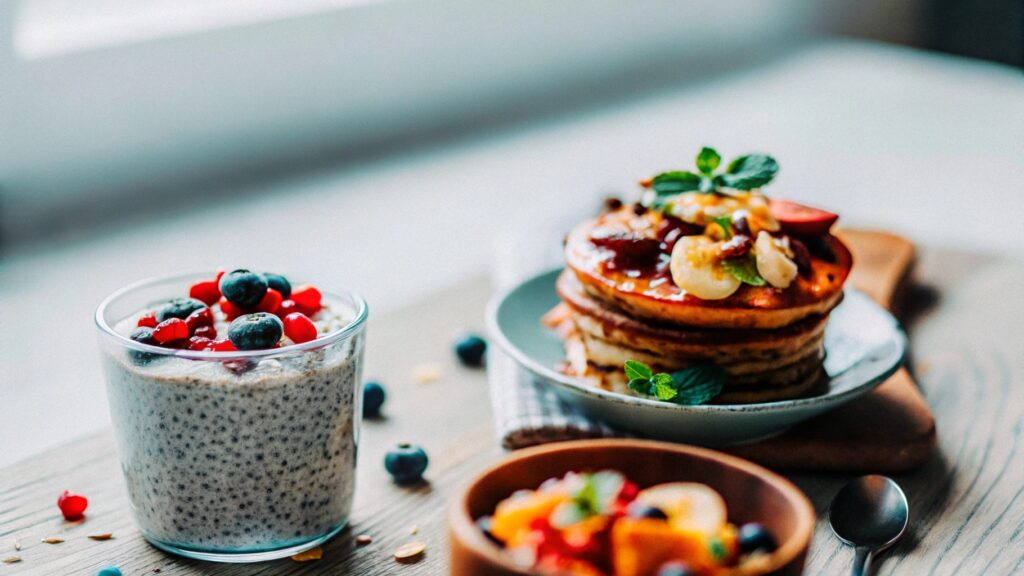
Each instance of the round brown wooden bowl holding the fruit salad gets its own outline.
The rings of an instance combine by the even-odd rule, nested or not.
[[[665,482],[700,482],[725,499],[729,521],[760,522],[779,547],[749,574],[800,574],[814,533],[814,507],[782,477],[746,460],[702,448],[641,440],[585,440],[515,452],[477,476],[449,509],[453,576],[523,576],[474,524],[520,489],[536,489],[572,470],[620,470],[641,488]]]

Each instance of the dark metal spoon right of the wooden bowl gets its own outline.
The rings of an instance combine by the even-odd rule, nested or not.
[[[864,576],[871,558],[896,543],[906,531],[909,506],[891,478],[862,476],[833,498],[828,523],[840,540],[854,547],[853,576]]]

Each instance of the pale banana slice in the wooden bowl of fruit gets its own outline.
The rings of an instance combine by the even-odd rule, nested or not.
[[[673,527],[714,536],[725,526],[725,500],[703,484],[674,482],[641,490],[637,501],[660,508]]]

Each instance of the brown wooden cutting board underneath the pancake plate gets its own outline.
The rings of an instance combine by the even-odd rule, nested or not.
[[[867,231],[840,234],[854,255],[850,283],[898,313],[914,262],[905,238]],[[935,418],[906,368],[870,394],[798,424],[782,436],[726,451],[785,470],[899,472],[935,451]]]

